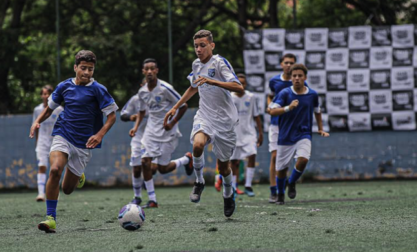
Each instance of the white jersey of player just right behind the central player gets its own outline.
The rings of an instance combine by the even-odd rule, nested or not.
[[[235,92],[231,94],[231,98],[238,109],[239,123],[236,126],[236,135],[238,140],[236,146],[245,146],[257,142],[255,120],[253,117],[259,115],[256,97],[249,91],[245,91],[242,97]]]

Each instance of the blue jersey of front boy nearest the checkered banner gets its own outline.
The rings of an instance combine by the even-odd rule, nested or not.
[[[298,106],[293,110],[279,116],[278,145],[293,145],[301,139],[311,140],[311,128],[313,126],[313,112],[320,113],[317,93],[306,87],[304,94],[297,94],[294,87],[283,89],[269,108],[280,108],[298,100]]]

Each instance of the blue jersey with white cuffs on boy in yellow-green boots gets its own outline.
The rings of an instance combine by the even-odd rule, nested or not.
[[[55,123],[52,136],[61,136],[78,148],[87,149],[88,139],[103,128],[103,113],[118,109],[107,88],[94,79],[85,86],[76,85],[70,78],[58,84],[49,97],[48,106],[56,109],[65,102]],[[101,143],[96,148],[101,148]]]

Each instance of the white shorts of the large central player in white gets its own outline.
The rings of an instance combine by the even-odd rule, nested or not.
[[[198,115],[194,116],[193,130],[191,131],[190,142],[193,144],[194,136],[203,132],[210,137],[207,144],[213,144],[213,153],[218,160],[221,162],[229,161],[231,155],[236,148],[236,132],[226,131],[218,132],[210,127],[209,124],[204,122]]]

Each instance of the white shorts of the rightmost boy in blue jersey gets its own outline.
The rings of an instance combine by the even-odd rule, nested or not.
[[[311,155],[310,139],[301,139],[293,145],[278,145],[276,150],[275,170],[280,171],[288,168],[293,158],[307,158]]]

